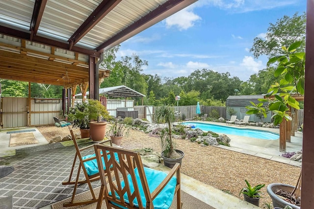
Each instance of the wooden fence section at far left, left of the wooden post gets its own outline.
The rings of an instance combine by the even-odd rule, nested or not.
[[[1,128],[27,126],[27,98],[1,97]]]

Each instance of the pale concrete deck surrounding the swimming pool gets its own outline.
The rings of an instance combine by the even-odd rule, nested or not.
[[[238,125],[227,125],[226,123],[219,122],[209,122],[209,121],[196,121],[191,120],[188,121],[190,123],[193,122],[202,122],[208,123],[212,125],[220,125],[220,126],[228,126],[228,127],[236,127],[239,129],[253,129],[253,130],[262,130],[268,131],[272,133],[279,134],[279,129],[277,128],[264,128],[257,126],[238,126]],[[219,133],[218,133],[219,134]],[[279,136],[276,140],[267,140],[267,139],[255,139],[254,136],[251,137],[240,137],[236,135],[226,134],[230,139],[230,147],[219,145],[217,147],[232,150],[235,152],[240,152],[243,154],[254,155],[256,157],[291,164],[294,166],[301,167],[302,163],[291,161],[288,158],[281,157],[283,152],[279,151]],[[295,136],[291,136],[291,142],[286,143],[286,152],[297,152],[302,149],[302,132],[295,132]]]

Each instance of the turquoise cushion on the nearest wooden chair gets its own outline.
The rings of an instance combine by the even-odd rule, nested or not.
[[[136,181],[138,183],[139,193],[140,193],[140,196],[142,199],[143,207],[146,208],[146,198],[144,195],[143,187],[142,187],[142,184],[141,184],[141,181],[139,178],[137,168],[134,169],[134,172],[135,172]],[[160,185],[160,183],[167,176],[167,174],[162,172],[162,171],[154,170],[154,169],[147,168],[147,167],[144,167],[144,172],[145,172],[148,187],[149,187],[149,190],[151,193],[157,188],[157,186]],[[130,182],[130,189],[131,189],[131,193],[132,193],[134,191],[134,186],[133,186],[130,174],[128,175],[128,181]],[[171,178],[171,180],[168,182],[168,184],[161,190],[161,192],[153,200],[154,209],[169,209],[170,208],[171,203],[172,203],[173,198],[174,198],[176,185],[177,185],[177,178],[175,176],[173,176]],[[122,187],[125,186],[124,182],[121,182],[121,186]],[[109,195],[111,195],[111,192],[109,192]],[[117,193],[116,193],[116,196],[118,199],[120,199],[120,197],[118,196]],[[127,203],[130,203],[127,194],[125,194],[123,197]],[[112,202],[112,204],[114,204],[120,208],[127,209],[127,208],[125,208],[121,205],[118,205],[116,203]],[[134,199],[133,204],[134,204],[134,206],[138,207],[138,202],[137,202],[136,198]]]

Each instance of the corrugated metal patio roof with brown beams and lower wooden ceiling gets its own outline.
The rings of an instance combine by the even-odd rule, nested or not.
[[[88,81],[89,58],[197,0],[1,0],[0,78]]]

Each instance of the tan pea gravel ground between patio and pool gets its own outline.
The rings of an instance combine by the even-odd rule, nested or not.
[[[68,128],[55,126],[37,127],[43,136],[50,141],[55,136],[65,137],[70,134]],[[79,133],[78,129],[74,129]],[[232,140],[232,139],[231,139]],[[185,139],[176,139],[177,149],[184,152],[182,161],[182,173],[197,179],[205,184],[227,191],[239,196],[240,190],[246,186],[244,180],[255,186],[265,184],[261,189],[260,207],[265,203],[271,203],[266,192],[266,186],[271,183],[284,183],[295,185],[301,168],[278,163],[255,156],[229,151],[214,146],[200,146],[196,142]],[[122,141],[122,147],[126,149],[153,148],[160,152],[159,139],[149,136],[144,132],[131,130],[128,137]]]

